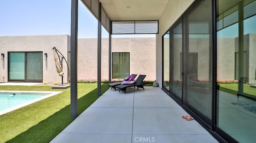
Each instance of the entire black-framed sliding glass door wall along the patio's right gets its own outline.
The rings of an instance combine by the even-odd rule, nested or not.
[[[163,35],[163,89],[227,142],[256,140],[255,24],[256,0],[196,0]]]

